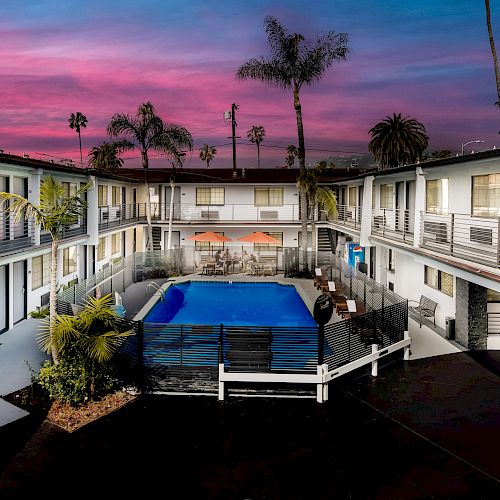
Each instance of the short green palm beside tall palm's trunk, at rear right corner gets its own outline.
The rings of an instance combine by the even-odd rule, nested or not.
[[[337,197],[335,193],[328,187],[319,185],[319,177],[327,168],[326,162],[319,162],[314,167],[307,167],[300,170],[297,176],[297,187],[305,194],[306,207],[311,220],[311,229],[313,235],[312,248],[313,254],[316,255],[316,219],[317,208],[321,205],[322,210],[328,217],[336,217],[337,215]]]

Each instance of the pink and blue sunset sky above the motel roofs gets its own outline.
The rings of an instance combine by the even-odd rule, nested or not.
[[[491,8],[500,52],[500,0]],[[5,152],[79,160],[68,117],[81,111],[85,159],[114,113],[133,114],[149,100],[192,133],[186,167],[204,167],[204,143],[218,149],[211,166],[225,167],[231,127],[223,112],[235,102],[238,166],[256,166],[252,125],[266,129],[262,166],[282,165],[297,143],[291,91],[234,76],[268,54],[266,15],[306,37],[331,29],[351,37],[347,61],[302,92],[308,161],[365,154],[368,130],[394,112],[426,126],[430,150],[460,151],[474,139],[485,141],[470,145],[476,151],[500,147],[483,0],[2,0],[0,13]],[[126,157],[137,165],[136,153]]]

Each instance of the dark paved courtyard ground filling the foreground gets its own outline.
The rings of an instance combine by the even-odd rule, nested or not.
[[[497,499],[500,353],[477,358],[397,361],[324,405],[145,396],[72,434],[17,428],[0,498]]]

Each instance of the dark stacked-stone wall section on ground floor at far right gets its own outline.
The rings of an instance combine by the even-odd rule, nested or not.
[[[487,347],[487,303],[486,288],[456,279],[455,340],[467,349]]]

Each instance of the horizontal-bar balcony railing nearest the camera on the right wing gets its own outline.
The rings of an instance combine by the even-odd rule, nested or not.
[[[493,267],[500,267],[499,217],[422,212],[420,246]]]

